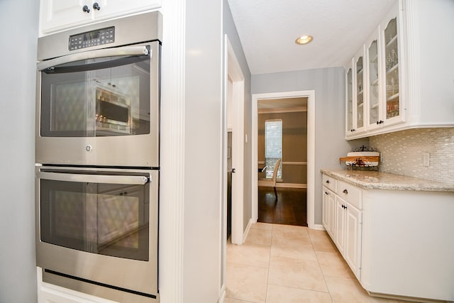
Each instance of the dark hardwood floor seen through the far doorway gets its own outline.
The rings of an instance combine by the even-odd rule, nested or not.
[[[258,205],[259,222],[307,226],[306,189],[259,187]]]

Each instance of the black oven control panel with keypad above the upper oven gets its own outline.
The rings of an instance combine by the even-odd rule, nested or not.
[[[104,45],[115,42],[115,27],[101,28],[95,31],[70,35],[69,50],[91,48],[96,45]]]

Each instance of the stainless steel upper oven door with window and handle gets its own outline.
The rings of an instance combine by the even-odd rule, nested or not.
[[[155,41],[38,63],[36,162],[158,167]]]

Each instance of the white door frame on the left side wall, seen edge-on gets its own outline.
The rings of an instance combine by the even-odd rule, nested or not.
[[[232,232],[231,243],[243,244],[244,241],[244,83],[245,78],[240,63],[235,55],[228,36],[225,35],[226,77],[224,87],[228,87],[228,78],[232,81]],[[225,93],[227,101],[227,92]],[[228,119],[226,119],[228,120]],[[224,124],[224,136],[227,136],[227,121]],[[225,142],[225,141],[224,141]],[[225,143],[225,150],[227,145]],[[227,153],[226,153],[227,155]],[[225,171],[224,175],[227,175]],[[226,208],[224,208],[226,209]]]

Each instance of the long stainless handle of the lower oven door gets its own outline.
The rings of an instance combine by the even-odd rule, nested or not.
[[[143,185],[150,181],[150,178],[145,176],[83,175],[63,172],[37,172],[36,177],[54,181],[135,185]]]

